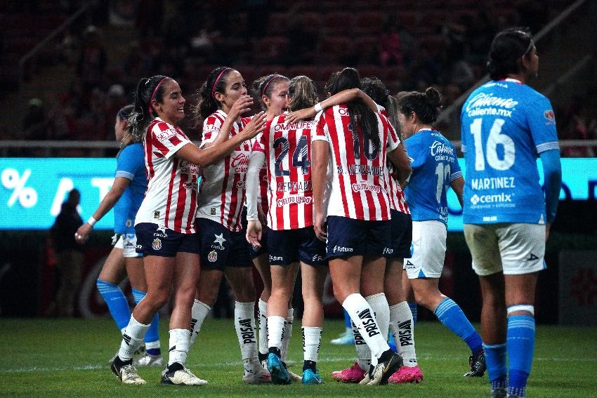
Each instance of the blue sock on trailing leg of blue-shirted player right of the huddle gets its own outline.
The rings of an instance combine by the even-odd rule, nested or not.
[[[449,297],[443,299],[435,308],[434,313],[447,329],[454,332],[468,345],[473,355],[483,351],[481,336],[475,331],[471,322],[468,321],[458,304],[454,303],[454,300]]]

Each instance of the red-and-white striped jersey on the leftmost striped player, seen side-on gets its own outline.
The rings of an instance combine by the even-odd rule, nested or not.
[[[147,127],[143,150],[147,192],[135,224],[155,223],[174,232],[195,232],[199,167],[174,154],[190,143],[181,128],[156,118]]]

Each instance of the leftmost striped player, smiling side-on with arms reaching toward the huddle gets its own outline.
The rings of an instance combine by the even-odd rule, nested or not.
[[[190,315],[199,274],[199,245],[195,236],[199,167],[214,164],[263,129],[263,114],[244,131],[218,145],[200,150],[178,122],[185,117],[185,98],[178,83],[157,75],[140,79],[131,132],[143,138],[147,192],[137,212],[137,251],[143,254],[147,296],[138,303],[126,326],[112,371],[125,384],[145,384],[132,364],[133,352],[143,342],[155,313],[173,294],[168,366],[162,383],[204,385],[185,367],[190,345]],[[230,118],[225,125],[232,126]]]

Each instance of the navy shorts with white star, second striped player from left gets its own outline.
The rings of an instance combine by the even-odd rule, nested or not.
[[[244,231],[231,232],[208,218],[195,218],[201,248],[200,264],[207,270],[252,267]]]

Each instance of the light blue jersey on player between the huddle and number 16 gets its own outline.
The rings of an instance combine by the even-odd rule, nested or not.
[[[447,224],[446,192],[452,181],[462,177],[454,145],[431,129],[410,136],[405,145],[412,159],[412,175],[405,188],[412,220]]]

